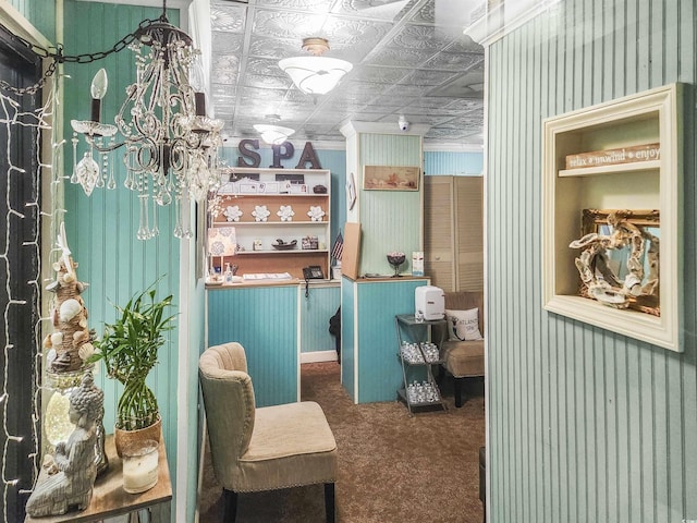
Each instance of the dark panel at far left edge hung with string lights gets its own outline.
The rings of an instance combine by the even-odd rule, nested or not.
[[[37,57],[0,26],[0,78],[12,86],[26,87],[39,77]],[[22,96],[7,90],[3,94],[20,105],[16,109],[20,114],[32,113],[40,106],[40,92]],[[12,114],[8,112],[5,108],[0,119]],[[39,223],[36,206],[25,205],[38,202],[38,130],[25,125],[35,122],[30,114],[17,120],[15,124],[0,125],[0,394],[2,391],[7,394],[0,400],[7,427],[0,426],[0,446],[4,449],[0,455],[4,457],[2,479],[16,479],[15,484],[2,486],[5,516],[10,522],[24,521],[26,491],[33,487],[39,459],[33,455],[39,437],[37,423],[33,421],[39,288],[30,283],[38,281]],[[33,244],[25,245],[25,242]]]

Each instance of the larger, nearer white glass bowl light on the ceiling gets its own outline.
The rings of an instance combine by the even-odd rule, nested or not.
[[[313,56],[285,58],[279,62],[279,68],[306,95],[325,95],[353,69],[345,60],[322,57],[328,49],[329,42],[325,38],[305,38],[303,50]]]

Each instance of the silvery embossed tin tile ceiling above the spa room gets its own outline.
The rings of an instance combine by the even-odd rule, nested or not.
[[[343,142],[348,121],[429,125],[425,145],[482,143],[484,49],[463,35],[474,0],[211,0],[211,99],[228,137],[278,114],[292,139]],[[279,69],[323,37],[353,64],[323,96]]]

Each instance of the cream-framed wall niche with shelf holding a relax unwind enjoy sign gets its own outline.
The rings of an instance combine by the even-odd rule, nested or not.
[[[683,351],[683,90],[671,84],[543,122],[543,307],[676,352]],[[588,209],[660,216],[653,314],[580,295],[579,250],[570,245],[588,233]]]

